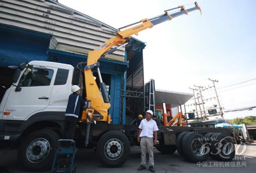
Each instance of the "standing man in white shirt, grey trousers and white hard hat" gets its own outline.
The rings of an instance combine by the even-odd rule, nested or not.
[[[157,131],[159,130],[154,120],[151,120],[153,112],[147,110],[146,119],[141,120],[139,124],[138,142],[141,148],[141,164],[138,170],[146,169],[146,152],[149,154],[149,170],[154,173],[154,153],[153,146],[157,144]],[[153,136],[154,135],[154,136]],[[154,137],[154,139],[153,139]]]

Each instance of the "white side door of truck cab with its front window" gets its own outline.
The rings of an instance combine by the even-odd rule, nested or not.
[[[4,111],[10,114],[3,119],[25,120],[32,113],[45,109],[49,105],[55,75],[56,68],[26,68],[17,83],[18,87],[9,88]]]

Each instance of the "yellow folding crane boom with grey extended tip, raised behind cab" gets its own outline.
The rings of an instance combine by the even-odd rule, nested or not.
[[[179,9],[179,11],[172,12]],[[183,5],[177,8],[171,8],[164,11],[164,14],[155,16],[151,19],[142,19],[139,22],[132,23],[130,25],[119,28],[117,35],[114,38],[110,38],[108,41],[100,45],[98,48],[90,51],[87,58],[87,66],[84,68],[85,75],[85,88],[86,88],[86,100],[87,107],[83,111],[81,120],[86,121],[87,124],[91,123],[91,120],[104,121],[110,124],[110,115],[108,109],[110,107],[108,94],[106,93],[105,84],[102,81],[101,73],[99,70],[98,60],[107,54],[113,53],[120,47],[127,45],[130,37],[133,34],[138,35],[140,31],[146,30],[162,22],[166,22],[180,15],[188,14],[191,11],[199,10],[201,8],[195,2],[194,8],[185,9]],[[127,28],[127,29],[124,29]],[[121,31],[121,29],[124,29]],[[117,48],[111,49],[115,45],[121,45]],[[97,68],[98,77],[100,80],[100,90],[94,79],[92,69]],[[89,133],[90,125],[87,126],[87,132]],[[88,134],[87,134],[88,135]],[[87,144],[87,142],[85,142]]]

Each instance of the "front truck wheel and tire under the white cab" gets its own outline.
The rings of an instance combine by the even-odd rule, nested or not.
[[[56,132],[48,129],[37,130],[27,135],[18,150],[21,165],[30,171],[50,169],[55,154],[55,143],[59,138]]]

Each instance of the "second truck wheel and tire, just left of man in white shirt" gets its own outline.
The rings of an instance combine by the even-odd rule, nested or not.
[[[130,154],[130,142],[121,132],[106,132],[99,139],[97,157],[105,167],[118,167],[124,164]]]

